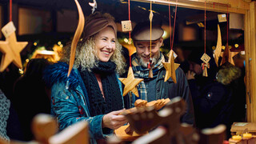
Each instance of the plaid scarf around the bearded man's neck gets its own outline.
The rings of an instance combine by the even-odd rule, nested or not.
[[[160,53],[160,58],[159,58],[157,64],[155,64],[153,67],[153,78],[156,78],[158,76],[158,70],[162,69],[162,67],[163,67],[162,62],[164,62],[164,60],[165,60],[165,58],[164,58],[163,54]],[[134,54],[131,62],[132,62],[132,67],[134,70],[135,78],[144,78],[144,80],[150,79],[149,78],[150,70],[143,68],[142,66],[139,65],[138,58],[136,58],[135,54]],[[142,81],[138,84],[138,93],[140,95],[140,98],[147,101],[146,86],[145,86],[144,81]]]

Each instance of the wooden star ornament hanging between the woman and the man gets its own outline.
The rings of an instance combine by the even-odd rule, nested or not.
[[[131,91],[138,97],[137,85],[143,81],[143,78],[134,78],[134,72],[131,66],[129,67],[127,78],[118,79],[125,85],[122,96],[125,96],[129,91]]]

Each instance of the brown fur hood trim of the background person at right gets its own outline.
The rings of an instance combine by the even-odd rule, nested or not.
[[[241,70],[231,65],[229,62],[223,64],[218,70],[217,81],[221,82],[223,85],[228,85],[235,79],[241,76]]]

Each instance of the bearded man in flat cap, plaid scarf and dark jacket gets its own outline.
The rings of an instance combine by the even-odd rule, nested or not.
[[[186,102],[186,113],[182,116],[182,122],[194,124],[194,107],[190,95],[190,89],[186,76],[181,68],[176,73],[177,83],[172,78],[164,82],[166,69],[162,62],[168,59],[160,51],[162,46],[163,30],[161,26],[153,24],[151,36],[151,58],[153,64],[153,78],[149,78],[148,64],[150,62],[150,22],[138,23],[131,34],[136,47],[136,53],[131,56],[132,68],[135,78],[144,78],[138,85],[139,98],[134,94],[131,97],[131,105],[134,106],[136,99],[148,102],[162,98],[182,97]]]

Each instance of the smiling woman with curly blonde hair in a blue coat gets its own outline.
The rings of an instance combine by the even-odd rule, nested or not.
[[[125,66],[121,53],[114,18],[110,14],[91,14],[78,43],[70,77],[66,77],[70,45],[63,48],[61,62],[46,70],[45,79],[52,86],[52,112],[58,117],[61,130],[87,121],[90,142],[97,143],[127,122],[118,115],[124,108],[118,81]]]

